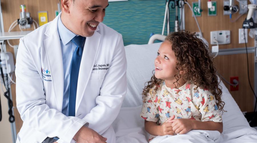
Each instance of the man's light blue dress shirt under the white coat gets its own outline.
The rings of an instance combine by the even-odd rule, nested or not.
[[[63,108],[62,113],[68,116],[69,111],[67,109],[69,105],[69,84],[70,84],[70,70],[72,54],[76,49],[76,45],[71,41],[76,34],[67,29],[61,20],[61,16],[58,19],[58,33],[61,41],[61,50],[63,56],[63,74],[64,74],[64,88],[63,88]]]

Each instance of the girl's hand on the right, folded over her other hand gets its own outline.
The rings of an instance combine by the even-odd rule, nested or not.
[[[191,119],[175,119],[170,120],[169,122],[172,123],[172,130],[176,134],[186,134],[190,130],[193,129],[193,120]]]

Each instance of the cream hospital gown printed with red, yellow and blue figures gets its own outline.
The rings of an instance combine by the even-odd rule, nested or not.
[[[150,89],[143,103],[140,116],[162,125],[168,118],[222,122],[215,96],[208,89],[194,90],[194,84],[168,88],[163,81],[158,90]]]

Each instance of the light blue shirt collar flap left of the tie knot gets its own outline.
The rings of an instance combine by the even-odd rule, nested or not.
[[[75,33],[71,32],[68,28],[66,28],[63,25],[63,22],[61,20],[61,15],[59,16],[59,19],[58,19],[58,33],[64,45],[69,43],[69,41],[71,41],[71,39],[76,36]]]

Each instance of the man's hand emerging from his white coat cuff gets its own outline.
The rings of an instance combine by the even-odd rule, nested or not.
[[[82,126],[73,139],[77,143],[106,143],[107,138],[99,135],[93,129]]]

